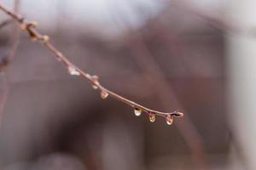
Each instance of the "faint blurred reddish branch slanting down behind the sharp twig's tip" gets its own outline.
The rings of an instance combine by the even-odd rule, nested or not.
[[[167,82],[165,73],[157,65],[154,57],[147,48],[147,45],[143,41],[142,35],[138,31],[132,31],[132,36],[129,40],[129,46],[133,52],[133,57],[137,61],[137,64],[141,67],[143,74],[148,78],[148,84],[152,84],[155,94],[160,100],[160,104],[166,109],[170,109],[170,105],[183,109],[183,106],[177,99],[176,94],[169,82]],[[150,77],[149,77],[150,76]],[[203,149],[203,142],[201,135],[197,132],[193,123],[189,120],[189,116],[183,118],[183,122],[177,122],[177,129],[183,136],[186,144],[191,150],[192,157],[195,164],[200,166],[201,169],[206,169],[206,162],[204,160],[205,154]]]

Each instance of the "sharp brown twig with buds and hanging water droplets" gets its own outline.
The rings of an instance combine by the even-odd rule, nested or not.
[[[102,99],[106,99],[108,95],[113,97],[114,99],[118,99],[119,101],[130,105],[133,108],[136,116],[140,116],[142,113],[148,114],[150,122],[154,122],[155,116],[163,116],[166,118],[166,123],[168,125],[171,125],[173,122],[173,116],[183,116],[183,113],[180,111],[160,112],[148,109],[143,105],[139,105],[136,102],[131,101],[130,99],[126,99],[119,94],[115,94],[113,91],[104,88],[99,82],[99,77],[90,76],[90,74],[79,69],[78,66],[74,65],[71,61],[69,61],[64,54],[61,54],[61,52],[57,48],[55,48],[55,46],[51,42],[49,42],[48,36],[42,35],[40,32],[38,32],[38,30],[36,29],[36,22],[30,22],[25,20],[25,18],[23,18],[20,14],[16,14],[14,11],[9,10],[5,6],[3,6],[2,3],[0,3],[0,8],[3,10],[4,13],[8,14],[14,20],[18,21],[18,23],[20,24],[20,29],[23,31],[27,31],[32,41],[42,42],[44,44],[44,47],[47,48],[49,52],[54,54],[55,58],[67,67],[67,71],[71,75],[83,77],[87,81],[89,81],[92,88],[100,92]]]

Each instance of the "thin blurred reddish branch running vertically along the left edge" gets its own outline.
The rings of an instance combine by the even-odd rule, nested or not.
[[[14,11],[18,12],[20,8],[20,0],[14,0]],[[0,28],[3,28],[3,26],[7,26],[10,23],[12,23],[13,20],[5,20],[1,23]],[[19,46],[20,42],[20,27],[17,22],[14,22],[14,27],[13,27],[13,37],[11,39],[11,44],[10,44],[10,49],[9,49],[9,54],[7,56],[4,56],[3,59],[0,61],[0,73],[2,73],[3,76],[3,94],[1,94],[0,97],[0,123],[2,121],[2,116],[3,116],[3,109],[4,109],[4,104],[7,99],[7,96],[9,94],[9,75],[5,69],[9,65],[9,63],[14,59],[15,53],[17,51],[17,48]]]

